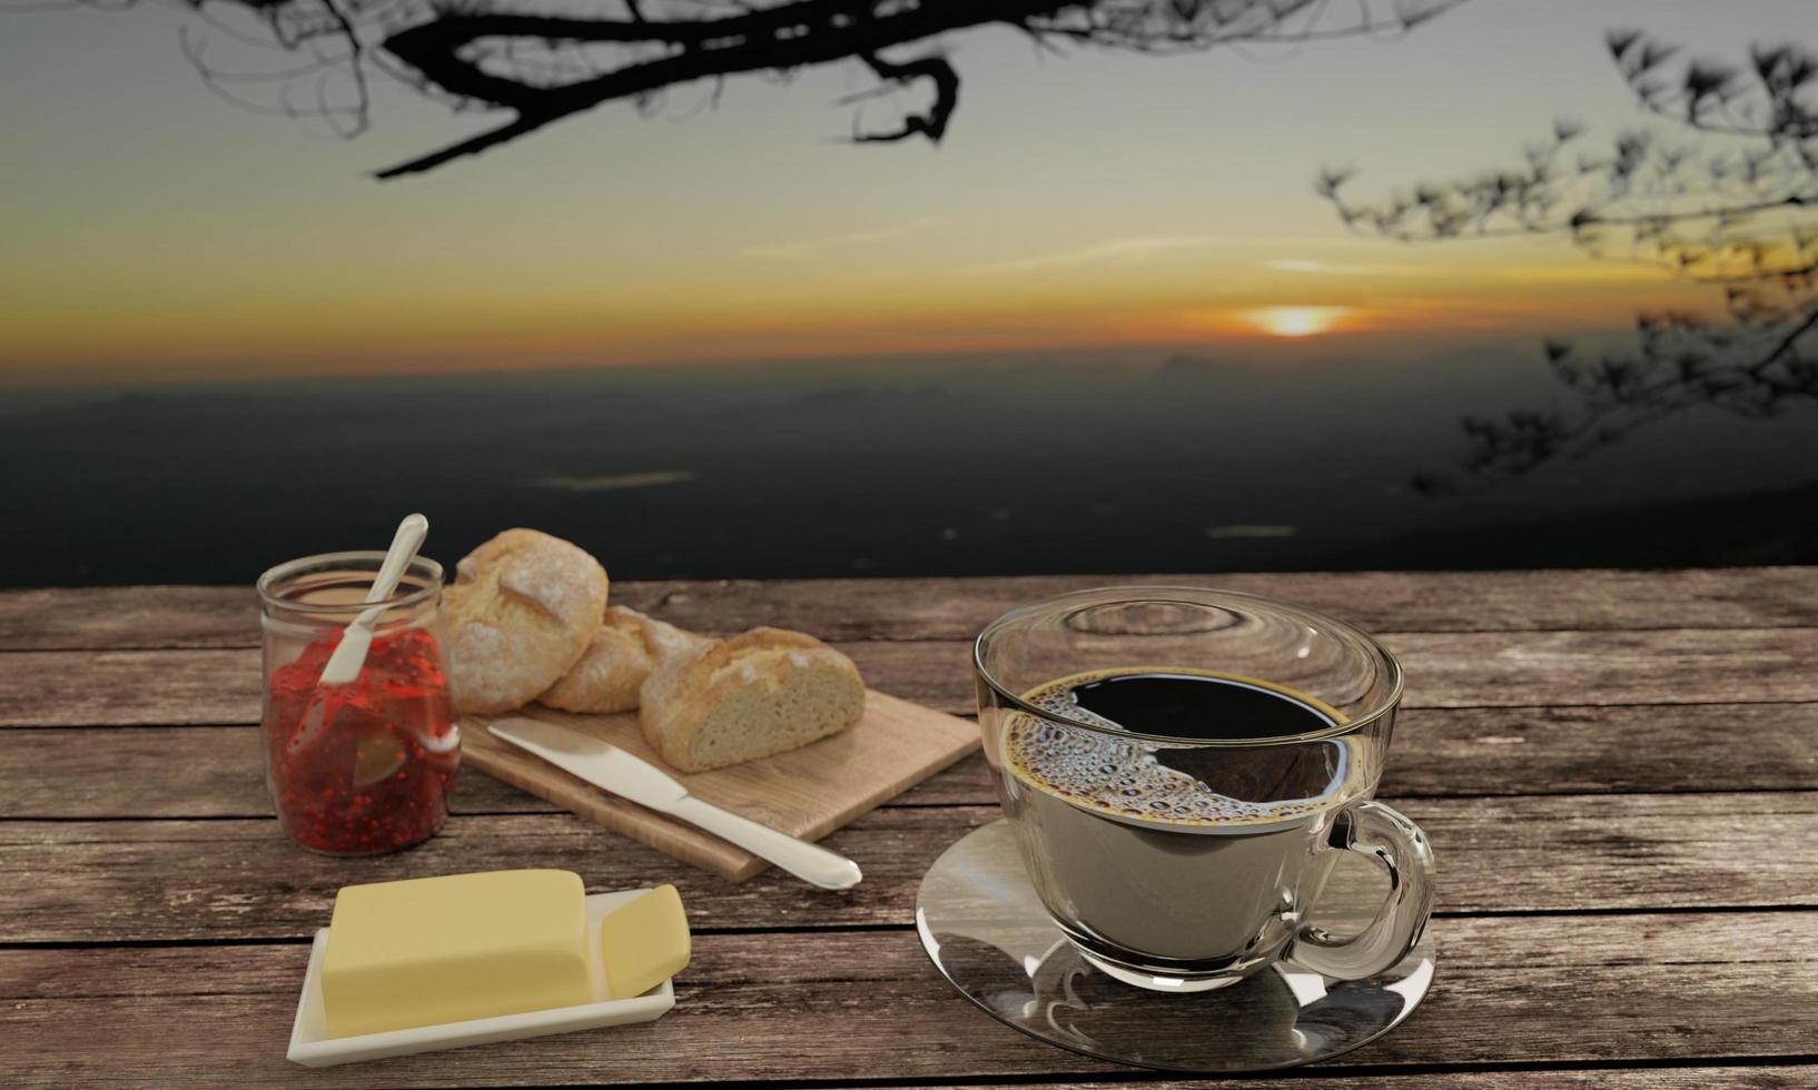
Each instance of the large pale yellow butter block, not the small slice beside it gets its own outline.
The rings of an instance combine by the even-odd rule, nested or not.
[[[682,941],[687,961],[685,932]],[[571,870],[451,874],[335,894],[322,957],[329,1037],[593,1001],[587,892]]]

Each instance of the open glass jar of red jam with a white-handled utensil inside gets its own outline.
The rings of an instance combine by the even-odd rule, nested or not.
[[[325,856],[396,852],[435,836],[460,765],[436,561],[411,561],[373,625],[360,676],[316,685],[384,558],[325,552],[258,578],[265,783],[284,832]]]

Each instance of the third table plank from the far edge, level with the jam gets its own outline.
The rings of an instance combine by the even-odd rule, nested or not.
[[[265,818],[262,776],[253,727],[0,730],[0,819]],[[1382,785],[1394,798],[1794,788],[1818,788],[1818,703],[1413,708],[1396,721]],[[976,758],[894,799],[993,801],[991,770]],[[451,805],[558,810],[471,767]]]

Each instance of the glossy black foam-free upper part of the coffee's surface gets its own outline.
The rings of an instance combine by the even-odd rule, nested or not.
[[[1333,725],[1298,694],[1207,674],[1109,674],[1073,687],[1071,699],[1133,734],[1185,741],[1291,738]]]

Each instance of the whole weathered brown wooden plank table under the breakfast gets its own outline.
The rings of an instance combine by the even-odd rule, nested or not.
[[[704,630],[834,639],[971,710],[967,639],[1111,580],[614,585]],[[1818,1086],[1818,569],[1171,578],[1383,636],[1407,705],[1382,796],[1440,859],[1440,976],[1307,1086]],[[425,1086],[1154,1081],[1024,1039],[927,965],[911,907],[996,807],[973,758],[831,845],[849,894],[727,885],[469,774],[431,843],[336,861],[271,819],[251,592],[0,592],[0,1083]],[[305,1070],[284,1059],[335,888],[564,867],[676,883],[696,926],[651,1026]],[[1164,1079],[1165,1081],[1165,1079]],[[1262,1079],[1258,1079],[1262,1081]],[[1247,1083],[1245,1083],[1247,1085]]]

